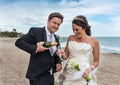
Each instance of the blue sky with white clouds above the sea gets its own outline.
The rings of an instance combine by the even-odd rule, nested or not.
[[[93,37],[120,37],[120,0],[0,0],[0,30],[27,33],[46,26],[52,12],[64,15],[58,35],[73,34],[72,19],[84,15]]]

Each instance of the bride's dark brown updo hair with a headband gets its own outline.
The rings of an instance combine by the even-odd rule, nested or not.
[[[91,26],[88,24],[88,21],[85,16],[83,15],[76,16],[73,19],[72,24],[81,26],[83,29],[85,29],[86,34],[91,36],[91,29],[90,29]]]

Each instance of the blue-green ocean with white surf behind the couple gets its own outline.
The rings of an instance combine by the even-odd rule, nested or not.
[[[120,37],[96,37],[100,43],[101,53],[117,53],[120,54]],[[61,47],[65,47],[67,37],[60,39]]]

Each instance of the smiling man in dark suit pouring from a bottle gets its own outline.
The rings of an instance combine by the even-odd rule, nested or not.
[[[54,72],[62,69],[61,60],[56,55],[58,46],[52,46],[53,55],[50,53],[50,48],[43,47],[43,44],[38,42],[50,41],[49,35],[52,40],[59,42],[54,34],[63,22],[63,16],[54,12],[48,17],[47,26],[38,28],[32,27],[29,32],[23,37],[19,38],[15,45],[30,53],[30,62],[26,77],[30,81],[30,85],[54,85]]]

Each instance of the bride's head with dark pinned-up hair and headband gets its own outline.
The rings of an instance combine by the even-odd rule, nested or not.
[[[81,34],[87,34],[91,36],[91,27],[88,24],[88,21],[85,16],[79,15],[76,16],[72,21],[73,32],[76,36],[81,37]]]

